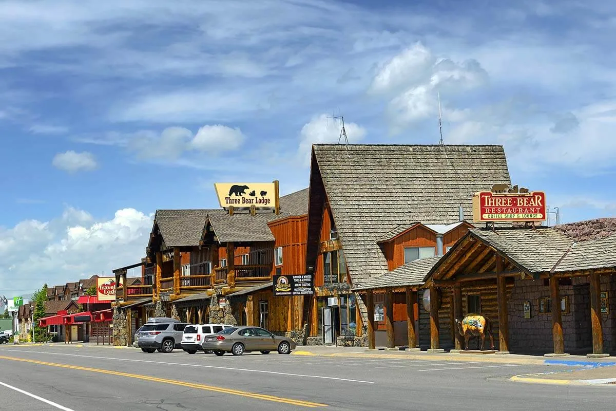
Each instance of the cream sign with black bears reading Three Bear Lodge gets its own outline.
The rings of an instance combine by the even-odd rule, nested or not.
[[[276,187],[273,182],[216,182],[216,195],[222,208],[275,208]]]

